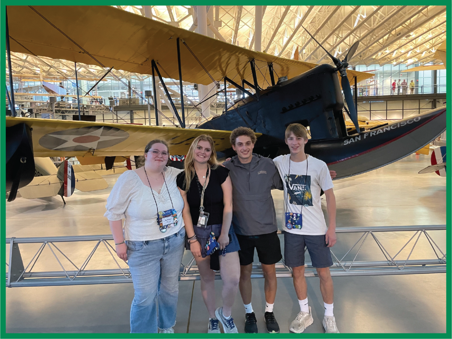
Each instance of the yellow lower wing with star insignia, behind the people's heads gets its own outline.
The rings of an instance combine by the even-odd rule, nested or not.
[[[100,123],[75,120],[6,118],[6,127],[25,123],[32,130],[35,157],[111,157],[143,155],[146,144],[164,139],[170,154],[187,154],[193,139],[209,134],[217,151],[231,148],[231,132],[213,129]],[[260,136],[262,134],[256,134]]]

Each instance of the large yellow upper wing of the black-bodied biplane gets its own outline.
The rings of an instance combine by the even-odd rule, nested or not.
[[[27,24],[24,24],[24,18]],[[256,67],[262,68],[263,74],[266,74],[267,64],[272,62],[275,76],[289,79],[317,66],[254,52],[112,6],[8,6],[8,23],[13,52],[32,52],[141,74],[152,73],[151,60],[154,59],[161,66],[162,76],[173,79],[179,79],[176,38],[188,45],[216,81],[226,75],[236,82],[246,79],[254,83],[250,59],[255,59]],[[180,52],[184,81],[212,83],[182,43]],[[256,71],[258,84],[266,88],[269,76],[267,74],[265,80],[261,72]],[[373,76],[365,72],[347,72],[350,82],[354,76],[358,82]]]

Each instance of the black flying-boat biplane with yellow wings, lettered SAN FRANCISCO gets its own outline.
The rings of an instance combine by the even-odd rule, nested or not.
[[[71,20],[66,13],[71,13]],[[27,25],[21,24],[23,17],[27,17]],[[350,81],[373,75],[347,69],[356,43],[343,61],[327,51],[334,66],[317,65],[240,48],[108,6],[7,6],[7,18],[11,51],[152,74],[154,86],[157,75],[179,123],[178,127],[163,127],[7,118],[9,200],[33,179],[33,156],[142,155],[146,143],[154,138],[166,139],[171,154],[184,155],[199,134],[210,134],[217,151],[227,156],[232,153],[229,131],[245,126],[258,136],[254,150],[273,157],[288,152],[286,126],[301,123],[311,134],[306,151],[325,161],[337,172],[336,178],[344,178],[414,153],[446,128],[446,109],[439,108],[362,130]],[[93,31],[103,38],[87,38]],[[182,103],[183,79],[203,85],[215,82],[225,92],[227,87],[235,87],[243,95],[229,102],[223,114],[203,118],[195,129],[185,128],[184,105],[179,115],[162,74],[179,80]],[[354,134],[349,134],[345,125],[341,87]],[[156,122],[159,113],[155,105]]]

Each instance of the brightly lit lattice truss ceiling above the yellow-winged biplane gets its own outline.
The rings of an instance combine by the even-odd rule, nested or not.
[[[183,29],[197,29],[196,6],[115,6]],[[360,41],[353,65],[438,63],[434,54],[446,39],[446,6],[262,6],[262,50],[306,62],[330,62],[324,50],[301,28],[303,25],[337,58]],[[255,6],[207,6],[208,35],[254,49]],[[40,76],[75,79],[72,62],[11,53],[13,73],[22,79]],[[51,65],[51,67],[49,67]],[[107,69],[78,64],[79,79],[91,81]],[[113,70],[114,76],[146,80],[149,75]],[[24,77],[25,76],[25,77]],[[67,79],[66,79],[67,80]]]

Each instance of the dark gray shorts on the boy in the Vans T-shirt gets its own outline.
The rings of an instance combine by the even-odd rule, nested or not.
[[[325,244],[325,234],[304,235],[284,232],[284,263],[288,267],[305,264],[305,248],[308,249],[313,267],[324,268],[333,265],[330,248]]]

